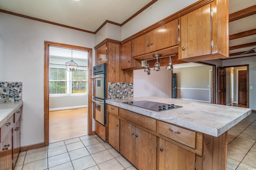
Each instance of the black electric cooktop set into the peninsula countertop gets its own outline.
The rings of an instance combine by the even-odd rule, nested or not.
[[[130,104],[132,106],[138,106],[145,109],[150,109],[154,111],[164,111],[168,109],[175,109],[182,106],[177,106],[174,104],[165,104],[165,103],[159,103],[159,102],[152,102],[148,100],[142,100],[142,101],[133,101],[133,102],[123,102],[124,104]]]

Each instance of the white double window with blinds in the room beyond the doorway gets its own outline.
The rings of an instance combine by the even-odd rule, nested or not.
[[[49,94],[79,93],[87,93],[87,68],[70,72],[66,66],[50,66]]]

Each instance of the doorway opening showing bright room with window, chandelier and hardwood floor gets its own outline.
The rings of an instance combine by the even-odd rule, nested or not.
[[[87,135],[88,52],[50,46],[49,72],[49,143]]]

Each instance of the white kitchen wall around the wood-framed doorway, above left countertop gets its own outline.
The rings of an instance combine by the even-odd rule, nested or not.
[[[0,18],[0,81],[23,83],[21,146],[43,143],[44,41],[93,49],[95,36],[4,13]]]

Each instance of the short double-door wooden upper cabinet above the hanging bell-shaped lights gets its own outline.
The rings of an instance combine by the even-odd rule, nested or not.
[[[132,57],[178,45],[178,19],[132,40]]]

